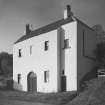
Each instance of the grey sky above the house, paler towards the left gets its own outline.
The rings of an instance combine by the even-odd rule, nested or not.
[[[67,4],[81,21],[105,30],[105,0],[0,0],[0,52],[12,53],[27,23],[35,30],[62,19]]]

